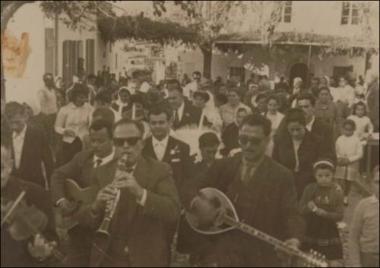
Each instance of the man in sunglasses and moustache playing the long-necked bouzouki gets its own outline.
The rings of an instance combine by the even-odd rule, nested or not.
[[[265,156],[270,132],[271,123],[262,115],[245,117],[239,127],[242,153],[216,161],[196,188],[223,191],[241,221],[298,247],[304,228],[297,212],[294,178],[288,169]],[[239,231],[224,233],[202,246],[200,266],[280,266],[272,247]]]

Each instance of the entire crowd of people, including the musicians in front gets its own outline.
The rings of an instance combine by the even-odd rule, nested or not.
[[[118,81],[104,68],[62,86],[45,74],[39,114],[2,103],[1,189],[24,189],[49,215],[44,233],[66,258],[52,260],[55,244],[33,237],[25,246],[2,228],[2,266],[169,266],[173,252],[195,266],[278,266],[281,254],[244,233],[203,236],[189,227],[183,211],[204,187],[226,193],[245,223],[343,266],[338,223],[379,132],[379,78],[310,80],[252,75],[236,83],[194,72],[156,85],[147,71]],[[378,158],[372,162],[345,265],[379,266]],[[94,189],[91,202],[78,208],[67,179]],[[99,238],[116,196],[110,236]],[[2,197],[2,217],[9,207]],[[77,224],[63,226],[65,217]]]

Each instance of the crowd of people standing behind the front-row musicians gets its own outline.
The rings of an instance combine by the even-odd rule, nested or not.
[[[341,259],[335,223],[342,220],[352,182],[360,180],[370,161],[365,153],[367,143],[379,132],[379,79],[369,72],[366,78],[355,80],[345,76],[309,80],[281,77],[274,82],[265,75],[252,75],[247,81],[221,77],[212,81],[194,72],[191,79],[185,74],[181,81],[168,79],[154,84],[148,71],[119,74],[117,79],[104,68],[97,75],[76,78],[64,86],[61,79],[47,73],[38,92],[39,114],[34,115],[27,104],[2,105],[2,144],[12,145],[18,177],[50,189],[55,169],[91,149],[89,131],[94,122],[114,124],[122,118],[139,121],[144,126],[144,139],[152,139],[153,133],[154,143],[165,127],[154,125],[152,115],[161,111],[167,116],[170,135],[190,147],[186,157],[181,157],[187,163],[182,164],[197,165],[193,170],[206,173],[216,158],[239,154],[242,143],[252,142],[239,136],[239,126],[248,115],[260,114],[271,122],[266,154],[293,172],[301,207],[320,211],[315,205],[319,201],[313,198],[328,196],[323,211],[329,213],[317,213],[312,220],[305,216],[312,225],[308,234],[310,239],[335,241],[327,251],[323,246],[317,249],[329,259]],[[155,111],[157,107],[159,111]],[[27,133],[26,125],[31,126]],[[193,148],[186,133],[199,134],[195,137],[195,147],[199,148]],[[378,163],[376,152],[374,156],[372,168]],[[158,158],[165,159],[164,152]],[[340,185],[327,194],[313,184],[315,163],[322,158],[333,163],[331,170]],[[175,176],[191,179],[190,174],[178,175],[187,172],[185,168],[176,168]],[[328,227],[323,230],[318,226]],[[377,249],[365,250],[378,252],[378,244]]]

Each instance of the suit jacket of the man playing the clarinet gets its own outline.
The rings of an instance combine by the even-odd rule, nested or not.
[[[114,163],[111,172],[97,177],[98,189],[110,183],[116,172]],[[106,258],[92,258],[90,266],[112,265],[128,256],[131,267],[169,266],[170,245],[168,229],[179,217],[179,198],[169,165],[151,158],[141,158],[134,171],[137,182],[147,189],[147,200],[142,207],[136,198],[125,189],[121,190],[120,201],[110,227],[111,236],[106,242]],[[90,206],[79,212],[84,226],[97,229],[103,217],[91,216]],[[96,240],[99,241],[99,240]],[[128,255],[125,253],[127,248]],[[96,256],[93,248],[92,256]]]

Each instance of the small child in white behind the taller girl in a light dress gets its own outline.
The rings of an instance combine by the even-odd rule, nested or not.
[[[364,102],[358,102],[353,106],[352,115],[347,119],[355,122],[355,135],[359,137],[363,144],[367,143],[368,137],[373,132],[371,119],[367,116],[367,106]]]

